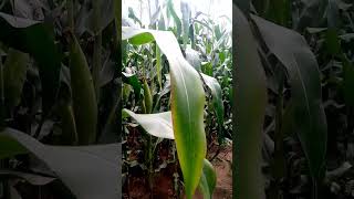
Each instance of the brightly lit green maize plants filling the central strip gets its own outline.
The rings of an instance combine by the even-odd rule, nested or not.
[[[198,187],[210,198],[216,177],[206,155],[231,139],[231,32],[188,3],[180,18],[174,1],[155,6],[147,27],[133,8],[123,17],[124,196],[190,198]],[[147,190],[135,190],[136,180]]]

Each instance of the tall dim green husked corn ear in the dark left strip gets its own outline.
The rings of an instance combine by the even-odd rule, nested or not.
[[[85,54],[73,34],[69,65],[77,140],[80,145],[93,144],[96,140],[98,112],[96,95]]]

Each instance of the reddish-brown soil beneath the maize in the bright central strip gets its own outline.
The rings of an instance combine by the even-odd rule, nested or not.
[[[212,149],[212,151],[215,151]],[[214,154],[210,153],[210,157]],[[223,147],[219,155],[211,161],[217,172],[217,186],[214,191],[214,199],[231,199],[232,198],[232,146]],[[173,199],[179,198],[177,191],[174,190],[174,172],[176,166],[170,164],[160,172],[154,176],[154,188],[149,191],[147,176],[144,174],[133,174],[128,178],[128,185],[125,185],[124,197],[129,199]],[[178,185],[179,189],[181,185]],[[127,195],[128,192],[128,195]],[[150,197],[153,193],[153,197]],[[181,195],[183,196],[183,195]],[[184,198],[184,197],[180,197]],[[196,199],[202,199],[202,195],[196,191]]]

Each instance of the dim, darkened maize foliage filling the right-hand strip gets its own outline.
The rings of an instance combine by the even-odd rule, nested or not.
[[[352,198],[352,2],[235,9],[238,197]]]

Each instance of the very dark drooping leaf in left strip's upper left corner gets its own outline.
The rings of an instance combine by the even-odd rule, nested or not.
[[[0,12],[0,41],[29,53],[39,64],[44,113],[53,106],[60,85],[62,54],[54,43],[53,27]],[[40,38],[40,40],[39,40]]]

